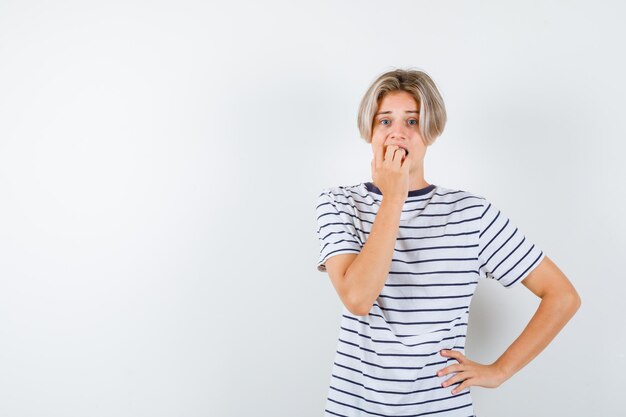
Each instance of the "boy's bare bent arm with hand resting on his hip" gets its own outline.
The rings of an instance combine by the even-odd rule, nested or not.
[[[459,362],[437,373],[442,376],[458,372],[443,384],[445,387],[463,381],[452,391],[453,394],[471,385],[500,386],[545,349],[580,307],[576,289],[547,256],[522,283],[541,298],[541,303],[519,337],[494,363],[482,365],[460,352],[442,351],[442,356],[453,357]]]

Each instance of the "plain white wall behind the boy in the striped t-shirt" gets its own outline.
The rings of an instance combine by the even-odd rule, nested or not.
[[[2,1],[0,415],[319,416],[341,304],[322,188],[371,180],[396,67],[449,122],[427,181],[486,196],[582,307],[480,417],[617,416],[626,371],[620,1]],[[539,300],[481,282],[467,354]]]

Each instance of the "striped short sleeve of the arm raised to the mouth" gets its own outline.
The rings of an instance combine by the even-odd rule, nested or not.
[[[324,190],[317,198],[315,210],[320,243],[317,270],[320,272],[326,272],[326,261],[334,255],[361,252],[353,215],[346,207],[349,208],[349,204],[339,204],[330,190]]]

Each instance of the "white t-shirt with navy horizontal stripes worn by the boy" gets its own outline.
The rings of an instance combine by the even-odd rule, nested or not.
[[[341,253],[359,253],[380,207],[371,182],[323,190],[317,201],[319,271]],[[389,275],[369,313],[344,306],[326,400],[327,416],[475,416],[469,389],[441,387],[465,354],[469,306],[479,277],[510,288],[544,257],[484,197],[431,184],[409,191]]]

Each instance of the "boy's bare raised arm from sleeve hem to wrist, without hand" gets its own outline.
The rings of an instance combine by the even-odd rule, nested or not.
[[[334,256],[326,261],[328,274],[339,297],[355,315],[366,315],[385,286],[402,207],[400,200],[383,198],[361,252],[358,255]],[[350,263],[348,266],[347,262]]]

